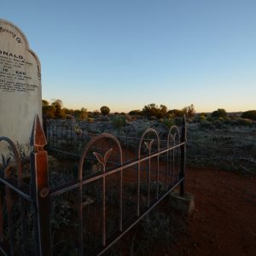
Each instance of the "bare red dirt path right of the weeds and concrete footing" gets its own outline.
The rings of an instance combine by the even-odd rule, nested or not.
[[[185,189],[195,195],[172,253],[159,255],[256,255],[256,177],[189,169]]]

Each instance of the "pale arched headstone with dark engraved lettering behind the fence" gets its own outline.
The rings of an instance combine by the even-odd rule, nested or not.
[[[0,137],[29,144],[37,114],[42,121],[40,61],[23,32],[0,20]]]

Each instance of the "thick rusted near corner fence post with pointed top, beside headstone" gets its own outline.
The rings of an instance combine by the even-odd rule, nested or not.
[[[37,256],[51,256],[50,198],[46,138],[38,116],[32,133],[31,195],[34,204],[34,236]]]

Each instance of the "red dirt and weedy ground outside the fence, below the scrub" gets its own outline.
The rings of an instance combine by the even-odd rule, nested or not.
[[[194,214],[181,218],[166,209],[166,198],[122,239],[121,250],[119,245],[113,247],[112,255],[255,255],[255,183],[255,175],[188,168],[185,189],[195,195]],[[176,222],[171,230],[165,227],[168,212]],[[162,224],[154,223],[154,215],[164,216]]]

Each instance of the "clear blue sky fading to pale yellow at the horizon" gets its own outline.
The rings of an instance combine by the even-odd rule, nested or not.
[[[256,109],[255,0],[2,1],[42,66],[43,98],[112,112]]]

